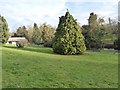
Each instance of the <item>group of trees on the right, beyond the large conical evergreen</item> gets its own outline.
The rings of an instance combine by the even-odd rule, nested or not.
[[[118,24],[115,20],[98,18],[93,12],[90,13],[88,25],[82,26],[87,49],[100,50],[104,47],[114,48],[114,41],[118,36]]]

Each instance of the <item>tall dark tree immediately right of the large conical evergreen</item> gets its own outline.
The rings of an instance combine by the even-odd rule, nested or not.
[[[88,23],[89,25],[82,26],[82,33],[85,37],[85,44],[87,49],[102,49],[104,46],[103,36],[105,35],[105,31],[101,27],[103,20],[99,19],[98,22],[97,15],[94,13],[90,13]]]

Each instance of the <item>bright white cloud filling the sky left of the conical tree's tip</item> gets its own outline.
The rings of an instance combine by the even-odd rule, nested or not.
[[[64,8],[64,4],[65,0],[60,2],[56,0],[0,0],[0,12],[8,19],[11,29],[16,23],[27,25],[47,21],[45,16],[50,17],[51,22],[52,18],[55,21]],[[11,20],[16,23],[13,24]]]

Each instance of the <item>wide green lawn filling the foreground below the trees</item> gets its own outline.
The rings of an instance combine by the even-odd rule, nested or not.
[[[51,48],[2,48],[3,88],[117,88],[118,54],[113,50],[85,55],[54,54]]]

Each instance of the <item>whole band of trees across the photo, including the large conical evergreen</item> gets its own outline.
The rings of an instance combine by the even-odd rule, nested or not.
[[[12,37],[26,37],[29,43],[53,47],[54,52],[60,54],[82,54],[85,49],[100,50],[104,47],[119,48],[118,24],[116,20],[98,17],[94,12],[90,13],[88,25],[78,25],[76,19],[66,12],[59,18],[57,29],[50,24],[43,23],[26,28],[18,27]],[[8,24],[4,17],[0,16],[0,39],[6,43],[9,37]],[[79,50],[79,48],[81,48]]]

